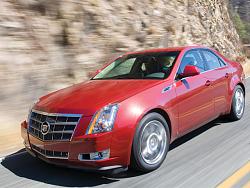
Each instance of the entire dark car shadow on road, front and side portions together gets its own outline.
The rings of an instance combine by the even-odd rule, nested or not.
[[[195,138],[208,129],[226,123],[224,119],[217,119],[191,133],[177,139],[170,146],[170,152],[174,148]],[[128,170],[119,174],[102,174],[96,172],[86,172],[76,169],[68,169],[47,164],[41,160],[35,159],[27,152],[20,150],[15,154],[7,156],[1,165],[14,173],[16,176],[30,179],[45,184],[67,186],[67,187],[93,187],[97,185],[110,184],[123,178],[143,175],[133,170]]]

